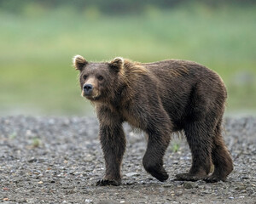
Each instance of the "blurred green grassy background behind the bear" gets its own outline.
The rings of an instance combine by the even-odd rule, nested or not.
[[[91,115],[72,58],[189,59],[256,112],[256,1],[0,0],[0,115]]]

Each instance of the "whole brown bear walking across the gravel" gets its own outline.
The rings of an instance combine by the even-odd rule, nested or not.
[[[231,173],[232,159],[221,134],[227,92],[217,73],[178,59],[138,63],[118,57],[95,63],[77,55],[73,65],[80,71],[82,95],[95,106],[100,123],[106,173],[97,185],[121,184],[123,122],[147,134],[143,167],[160,181],[168,178],[163,156],[171,134],[180,131],[192,166],[189,173],[177,174],[178,180],[218,182]]]

